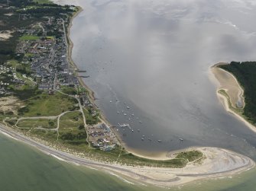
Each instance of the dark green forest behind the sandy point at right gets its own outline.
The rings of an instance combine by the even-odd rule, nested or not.
[[[256,123],[256,62],[231,62],[220,65],[220,68],[231,72],[245,90],[244,115]]]

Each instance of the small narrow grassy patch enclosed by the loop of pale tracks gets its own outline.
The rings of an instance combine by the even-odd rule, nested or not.
[[[19,128],[54,129],[57,128],[57,119],[23,119],[18,122],[17,126]]]

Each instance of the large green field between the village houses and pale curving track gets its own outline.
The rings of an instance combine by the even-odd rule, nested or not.
[[[46,92],[24,101],[26,107],[18,110],[20,116],[57,116],[68,110],[76,110],[77,100],[60,93]]]

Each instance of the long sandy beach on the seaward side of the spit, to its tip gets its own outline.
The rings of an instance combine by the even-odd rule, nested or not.
[[[129,180],[131,179],[135,183],[149,183],[155,186],[170,187],[183,185],[184,183],[190,183],[195,180],[234,175],[255,167],[254,161],[241,154],[222,148],[206,147],[196,148],[198,151],[203,152],[204,156],[202,159],[187,164],[183,168],[134,167],[115,163],[110,164],[107,162],[93,161],[89,158],[81,158],[78,154],[70,154],[51,148],[2,125],[0,126],[0,132],[3,135],[15,138],[17,141],[24,142],[26,145],[33,146],[57,160],[65,161],[69,164],[83,165],[96,170],[103,170],[111,174],[118,173],[122,176],[122,179],[128,177]],[[189,148],[186,151],[190,149],[195,148]]]

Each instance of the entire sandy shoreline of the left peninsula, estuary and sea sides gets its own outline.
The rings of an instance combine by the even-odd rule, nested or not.
[[[68,56],[67,59],[69,62],[69,66],[73,67],[74,69],[74,75],[76,75],[76,78],[78,74],[78,68],[72,59],[73,43],[70,40],[70,27],[72,27],[73,19],[76,18],[76,16],[81,11],[83,11],[83,9],[79,7],[78,11],[76,11],[76,13],[74,13],[72,17],[70,17],[70,20],[68,21],[68,26],[64,28],[64,33],[66,36],[66,46],[68,46],[66,47],[66,56]],[[82,78],[77,79],[79,81],[79,84],[85,87],[86,90],[89,92],[89,100],[92,102],[92,104],[95,104],[95,97],[93,95],[93,91],[91,91],[86,86],[86,83],[85,81],[83,81]],[[105,124],[109,124],[107,119],[105,119],[105,116],[102,113],[102,111],[100,114],[100,119]],[[160,167],[160,164],[157,161],[155,164],[148,164],[151,167],[138,166],[138,161],[135,161],[136,164],[133,164],[134,166],[131,166],[131,164],[129,165],[129,163],[118,164],[118,162],[116,161],[100,161],[99,158],[91,158],[92,156],[82,157],[83,155],[81,155],[79,152],[64,147],[58,148],[57,145],[52,144],[51,142],[44,141],[43,139],[40,139],[37,136],[31,136],[27,135],[26,133],[15,131],[14,129],[9,128],[8,125],[0,125],[0,132],[2,132],[3,135],[15,138],[17,141],[21,141],[27,145],[31,145],[34,148],[37,148],[38,150],[43,151],[45,154],[48,154],[53,158],[57,158],[60,161],[65,161],[69,164],[78,164],[84,165],[86,167],[93,167],[99,170],[108,171],[109,173],[115,172],[118,174],[122,174],[122,176],[129,177],[132,180],[138,180],[138,182],[144,183],[151,183],[156,186],[176,186],[183,183],[191,182],[193,180],[200,180],[209,177],[225,177],[226,174],[241,172],[244,170],[251,169],[252,167],[255,166],[254,161],[241,154],[237,154],[235,152],[228,151],[222,148],[206,147],[184,149],[183,151],[196,150],[200,151],[203,154],[200,155],[200,158],[197,158],[196,161],[193,162],[190,162],[190,159],[187,159],[186,157],[179,159],[186,160],[187,164],[185,167],[182,168]],[[118,138],[118,135],[116,134],[117,133],[115,133],[115,136],[116,138]],[[118,139],[118,141],[120,140]],[[125,144],[122,143],[121,146],[123,147],[125,146]],[[126,149],[126,151],[129,150]],[[175,158],[175,155],[178,153],[179,151],[171,152],[169,154],[169,158],[167,159]],[[142,157],[147,158],[145,156]]]

